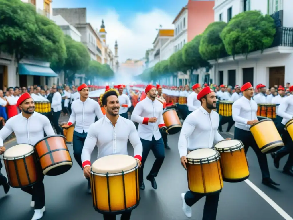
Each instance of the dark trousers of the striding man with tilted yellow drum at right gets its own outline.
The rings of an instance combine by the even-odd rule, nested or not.
[[[268,167],[267,155],[265,155],[264,153],[260,151],[258,145],[256,144],[253,138],[252,133],[250,131],[245,131],[239,128],[235,128],[234,138],[243,142],[245,153],[247,153],[247,150],[249,147],[253,149],[258,159],[258,164],[260,166],[262,177],[269,178],[270,171]]]

